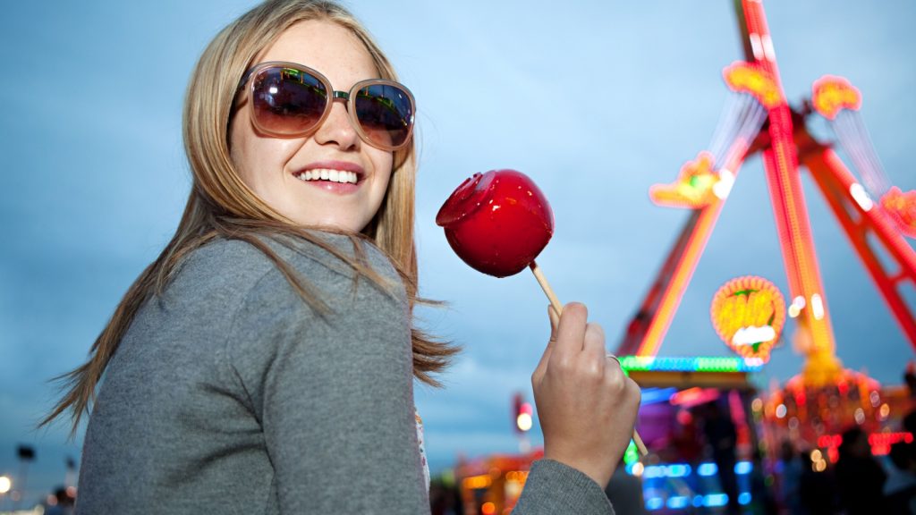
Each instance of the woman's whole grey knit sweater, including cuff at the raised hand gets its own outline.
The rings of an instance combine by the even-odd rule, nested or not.
[[[344,236],[324,237],[352,255]],[[248,244],[217,240],[192,253],[108,365],[77,513],[430,512],[409,308],[394,268],[364,244],[396,286],[354,286],[320,247],[271,247],[331,312],[312,311]],[[514,513],[613,510],[589,477],[540,460]]]

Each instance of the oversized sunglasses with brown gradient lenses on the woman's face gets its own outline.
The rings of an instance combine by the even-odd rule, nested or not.
[[[251,119],[268,136],[311,134],[331,113],[337,99],[346,102],[356,134],[373,147],[404,148],[413,132],[413,93],[398,82],[369,79],[356,82],[349,92],[339,92],[324,75],[307,66],[269,61],[245,71],[238,83],[239,92],[245,84]]]

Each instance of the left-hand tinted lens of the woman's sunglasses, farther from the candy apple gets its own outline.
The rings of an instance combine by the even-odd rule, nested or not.
[[[317,77],[293,68],[272,67],[254,77],[257,124],[276,134],[309,132],[322,119],[328,91]]]

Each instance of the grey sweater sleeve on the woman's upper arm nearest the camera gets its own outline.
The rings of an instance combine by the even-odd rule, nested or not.
[[[280,513],[428,513],[403,290],[314,262],[299,271],[330,312],[269,273],[227,344],[274,469],[267,502]]]

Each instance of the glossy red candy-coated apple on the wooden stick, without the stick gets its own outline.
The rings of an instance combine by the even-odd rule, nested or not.
[[[436,224],[458,257],[496,277],[525,269],[553,236],[551,205],[516,170],[474,173],[442,204]]]

